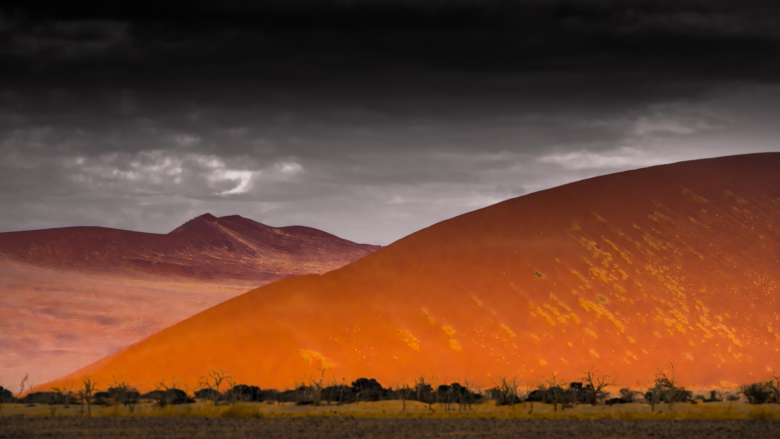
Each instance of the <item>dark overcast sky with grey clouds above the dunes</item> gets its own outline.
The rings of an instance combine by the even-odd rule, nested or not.
[[[775,0],[3,2],[0,231],[204,212],[389,244],[780,151]]]

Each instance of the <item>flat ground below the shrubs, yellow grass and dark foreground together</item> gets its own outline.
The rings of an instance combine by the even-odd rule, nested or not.
[[[81,408],[5,404],[0,437],[780,437],[777,404],[743,402],[657,405],[579,405],[553,412],[551,405],[497,407],[488,402],[459,412],[443,405],[367,402],[296,406],[289,403],[197,402],[154,407],[144,401],[133,416],[125,407]],[[140,415],[140,416],[139,416]]]

